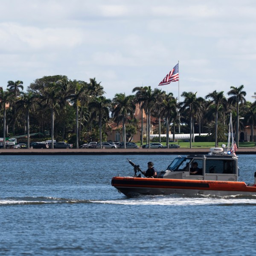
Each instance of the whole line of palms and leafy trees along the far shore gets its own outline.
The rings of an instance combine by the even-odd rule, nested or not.
[[[107,99],[104,87],[96,78],[86,81],[69,80],[67,76],[44,76],[31,83],[26,92],[23,81],[8,81],[7,89],[0,87],[0,133],[6,137],[50,131],[50,138],[66,140],[76,148],[89,141],[98,140],[100,145],[106,138],[106,131],[115,122],[122,127],[122,140],[127,142],[140,129],[141,144],[143,140],[150,147],[151,116],[157,118],[159,127],[155,134],[166,134],[169,145],[169,131],[172,130],[173,140],[176,133],[190,134],[190,147],[194,133],[209,133],[214,137],[215,146],[219,141],[226,140],[227,125],[230,113],[236,118],[236,142],[239,146],[239,131],[250,126],[250,140],[253,141],[253,128],[256,124],[256,93],[254,102],[245,99],[244,85],[230,87],[224,91],[216,90],[204,98],[197,92],[183,92],[183,102],[178,102],[173,93],[150,86],[134,87],[131,95],[116,93],[113,99]],[[146,113],[146,134],[134,117],[135,105]],[[6,107],[7,106],[7,107]],[[145,139],[144,139],[145,137]],[[53,147],[53,143],[51,144]],[[5,144],[3,144],[5,147]]]

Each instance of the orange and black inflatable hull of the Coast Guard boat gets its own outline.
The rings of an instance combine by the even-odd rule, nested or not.
[[[256,186],[238,181],[113,177],[111,185],[128,197],[142,195],[256,195]]]

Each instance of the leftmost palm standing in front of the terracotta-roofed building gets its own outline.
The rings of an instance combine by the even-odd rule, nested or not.
[[[126,131],[125,131],[125,122],[128,119],[128,116],[133,117],[135,111],[134,105],[134,96],[128,95],[125,96],[125,93],[116,93],[113,98],[113,102],[116,105],[113,111],[113,118],[119,123],[122,120],[122,132],[123,132],[123,142],[124,148],[126,148]]]

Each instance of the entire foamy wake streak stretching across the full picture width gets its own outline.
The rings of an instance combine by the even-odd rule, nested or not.
[[[6,205],[37,204],[125,204],[125,205],[256,205],[256,195],[212,196],[212,195],[145,195],[138,198],[117,198],[113,200],[82,200],[55,197],[8,197],[0,198],[0,207]]]

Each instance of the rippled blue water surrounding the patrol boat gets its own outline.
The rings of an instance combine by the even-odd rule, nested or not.
[[[127,156],[166,169],[175,156]],[[142,196],[126,156],[0,156],[0,255],[253,255],[256,196]],[[254,182],[255,155],[239,156]]]

